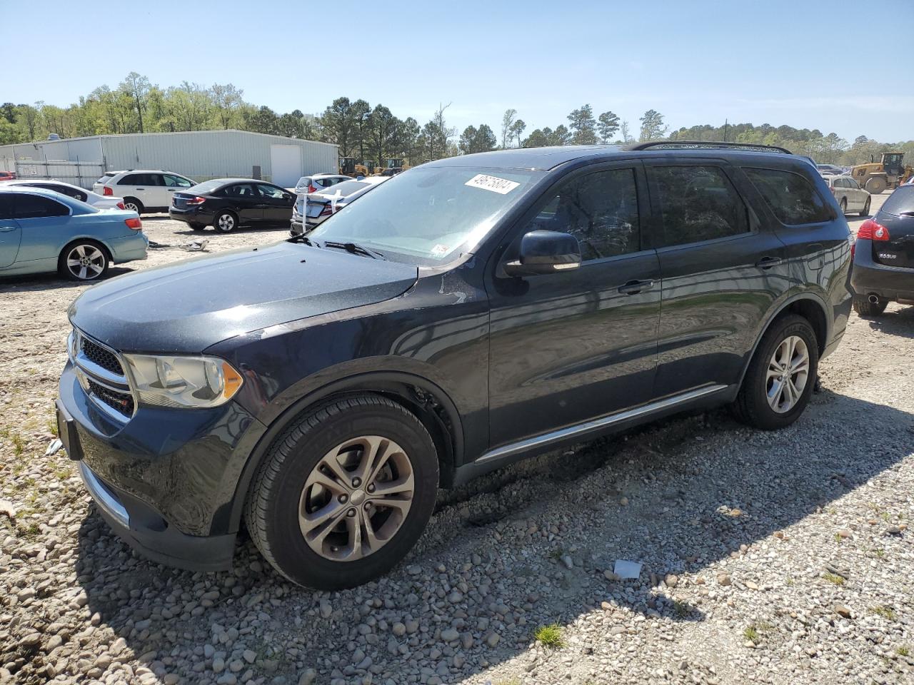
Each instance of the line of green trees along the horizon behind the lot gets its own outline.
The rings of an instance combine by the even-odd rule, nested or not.
[[[383,104],[336,98],[318,114],[300,110],[278,113],[244,100],[244,91],[231,83],[206,87],[197,83],[161,88],[132,71],[115,88],[101,86],[69,107],[44,102],[0,105],[0,144],[45,140],[51,133],[61,138],[107,133],[205,131],[240,129],[291,138],[335,142],[340,154],[359,161],[384,163],[404,158],[409,164],[457,154],[481,153],[510,147],[545,145],[629,143],[670,140],[756,142],[786,147],[820,163],[855,164],[890,149],[914,158],[914,141],[881,143],[858,136],[853,143],[836,133],[817,129],[754,126],[750,123],[714,126],[703,124],[669,132],[664,115],[648,110],[634,124],[612,111],[595,114],[590,104],[571,111],[567,122],[524,135],[526,122],[514,109],[505,111],[495,131],[487,123],[467,126],[458,135],[448,125],[450,103],[439,103],[430,121],[400,119]],[[914,161],[914,160],[912,160]]]

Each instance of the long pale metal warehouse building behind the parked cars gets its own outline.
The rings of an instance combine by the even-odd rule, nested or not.
[[[95,135],[0,145],[0,170],[20,178],[58,178],[91,188],[106,171],[161,169],[206,181],[260,177],[291,186],[305,174],[335,172],[337,148],[248,131],[188,131]]]

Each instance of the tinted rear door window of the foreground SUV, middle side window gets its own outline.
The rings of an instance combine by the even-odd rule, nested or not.
[[[664,217],[660,245],[685,245],[749,232],[749,213],[717,166],[655,166]]]

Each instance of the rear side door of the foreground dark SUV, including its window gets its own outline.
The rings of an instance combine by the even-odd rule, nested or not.
[[[771,305],[789,287],[784,245],[721,160],[645,162],[662,229],[657,395],[739,383]]]

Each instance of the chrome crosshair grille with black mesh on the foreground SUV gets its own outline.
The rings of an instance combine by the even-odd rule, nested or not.
[[[124,373],[121,356],[75,328],[67,351],[80,385],[93,404],[118,421],[128,421],[136,411],[136,395]]]

